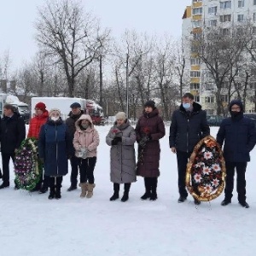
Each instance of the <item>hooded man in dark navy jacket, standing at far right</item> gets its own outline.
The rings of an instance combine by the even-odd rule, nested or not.
[[[222,206],[231,202],[234,188],[236,168],[236,190],[241,207],[248,208],[246,201],[247,162],[250,161],[250,151],[256,143],[255,125],[252,119],[243,116],[243,105],[240,100],[230,102],[230,118],[224,119],[219,127],[217,142],[224,143],[224,160],[226,164],[225,198]]]

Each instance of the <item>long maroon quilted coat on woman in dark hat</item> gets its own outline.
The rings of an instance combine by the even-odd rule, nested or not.
[[[166,135],[163,119],[157,108],[151,113],[145,113],[138,119],[136,125],[137,143],[146,135],[150,135],[145,148],[138,146],[137,175],[142,177],[159,177],[160,138]]]

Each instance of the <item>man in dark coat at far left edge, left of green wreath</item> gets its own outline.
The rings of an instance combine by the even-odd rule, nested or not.
[[[3,107],[3,119],[0,125],[1,154],[3,164],[3,183],[0,189],[9,187],[9,160],[15,160],[15,150],[26,137],[24,119],[15,112],[15,107],[6,104]],[[15,184],[15,189],[18,189]]]

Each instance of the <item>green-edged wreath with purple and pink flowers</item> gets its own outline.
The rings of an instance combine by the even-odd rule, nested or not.
[[[43,172],[43,163],[38,160],[38,140],[26,138],[15,154],[15,181],[20,189],[32,190]]]

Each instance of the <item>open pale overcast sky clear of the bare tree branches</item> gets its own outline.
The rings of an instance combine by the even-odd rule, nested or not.
[[[70,0],[72,1],[72,0]],[[0,0],[0,56],[9,50],[15,67],[29,61],[37,51],[34,21],[37,6],[44,0]],[[192,0],[81,0],[102,26],[111,28],[115,38],[125,29],[163,35],[181,36],[183,11]]]

